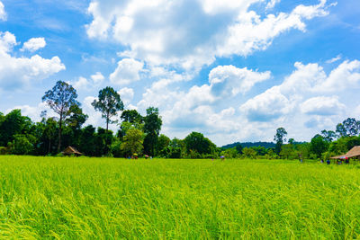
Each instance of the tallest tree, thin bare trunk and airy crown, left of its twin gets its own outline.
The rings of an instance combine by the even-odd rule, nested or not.
[[[76,101],[77,93],[75,88],[63,81],[58,81],[55,86],[45,93],[42,102],[48,103],[50,109],[59,115],[58,120],[58,152],[61,147],[62,123],[71,114],[70,109],[80,106]]]

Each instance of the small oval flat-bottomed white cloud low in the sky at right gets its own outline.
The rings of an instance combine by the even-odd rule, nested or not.
[[[331,116],[341,114],[345,111],[346,106],[338,101],[338,96],[320,96],[302,102],[300,108],[305,114]]]

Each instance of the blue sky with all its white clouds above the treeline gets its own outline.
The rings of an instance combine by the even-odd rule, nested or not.
[[[105,126],[91,102],[112,86],[169,138],[310,141],[360,119],[359,16],[358,0],[0,0],[0,111],[51,115],[62,80],[85,125]]]

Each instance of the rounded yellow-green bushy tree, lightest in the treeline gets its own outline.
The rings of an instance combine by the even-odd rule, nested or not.
[[[129,129],[123,138],[121,150],[130,152],[131,156],[140,154],[143,147],[142,143],[143,133],[139,129]]]

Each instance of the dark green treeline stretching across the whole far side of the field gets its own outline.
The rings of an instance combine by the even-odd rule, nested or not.
[[[162,120],[156,107],[149,107],[142,116],[136,110],[125,110],[121,96],[112,87],[99,91],[92,105],[102,113],[106,129],[84,126],[88,116],[76,101],[76,89],[58,81],[42,101],[58,114],[40,122],[23,116],[21,110],[4,115],[0,112],[0,155],[61,156],[67,147],[76,147],[85,156],[157,156],[164,158],[264,158],[264,159],[327,159],[346,153],[360,145],[360,121],[347,118],[335,130],[322,130],[311,142],[287,140],[284,128],[275,130],[274,143],[234,143],[217,147],[200,132],[186,138],[170,139],[160,134]],[[121,112],[121,114],[118,114]],[[117,132],[108,129],[116,123]]]

